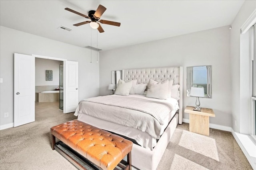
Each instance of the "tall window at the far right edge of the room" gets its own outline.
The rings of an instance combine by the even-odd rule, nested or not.
[[[251,135],[256,140],[256,25],[252,26],[250,31],[252,59]]]

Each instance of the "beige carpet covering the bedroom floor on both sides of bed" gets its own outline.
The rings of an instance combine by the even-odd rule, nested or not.
[[[36,121],[0,131],[0,170],[77,170],[50,147],[50,127],[76,119],[58,102],[36,103]],[[251,170],[230,132],[210,129],[210,137],[178,125],[158,170]]]

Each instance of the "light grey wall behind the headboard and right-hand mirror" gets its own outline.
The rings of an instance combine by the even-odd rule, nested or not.
[[[231,127],[229,26],[102,51],[100,61],[100,95],[109,94],[112,70],[183,66],[184,108],[196,102],[186,96],[186,67],[212,65],[212,99],[200,98],[201,106],[214,110],[210,123]]]

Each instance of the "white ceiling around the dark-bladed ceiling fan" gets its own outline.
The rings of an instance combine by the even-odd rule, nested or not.
[[[101,4],[107,8],[102,20],[117,21],[120,27],[101,24],[98,48],[116,49],[177,35],[230,25],[244,0],[1,0],[0,25],[64,43],[91,45],[88,19],[64,10],[71,8],[88,16]],[[72,29],[57,29],[61,25]],[[92,29],[92,46],[97,47]]]

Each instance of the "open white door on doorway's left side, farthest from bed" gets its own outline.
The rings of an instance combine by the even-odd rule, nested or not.
[[[35,57],[14,53],[14,127],[35,121]]]

